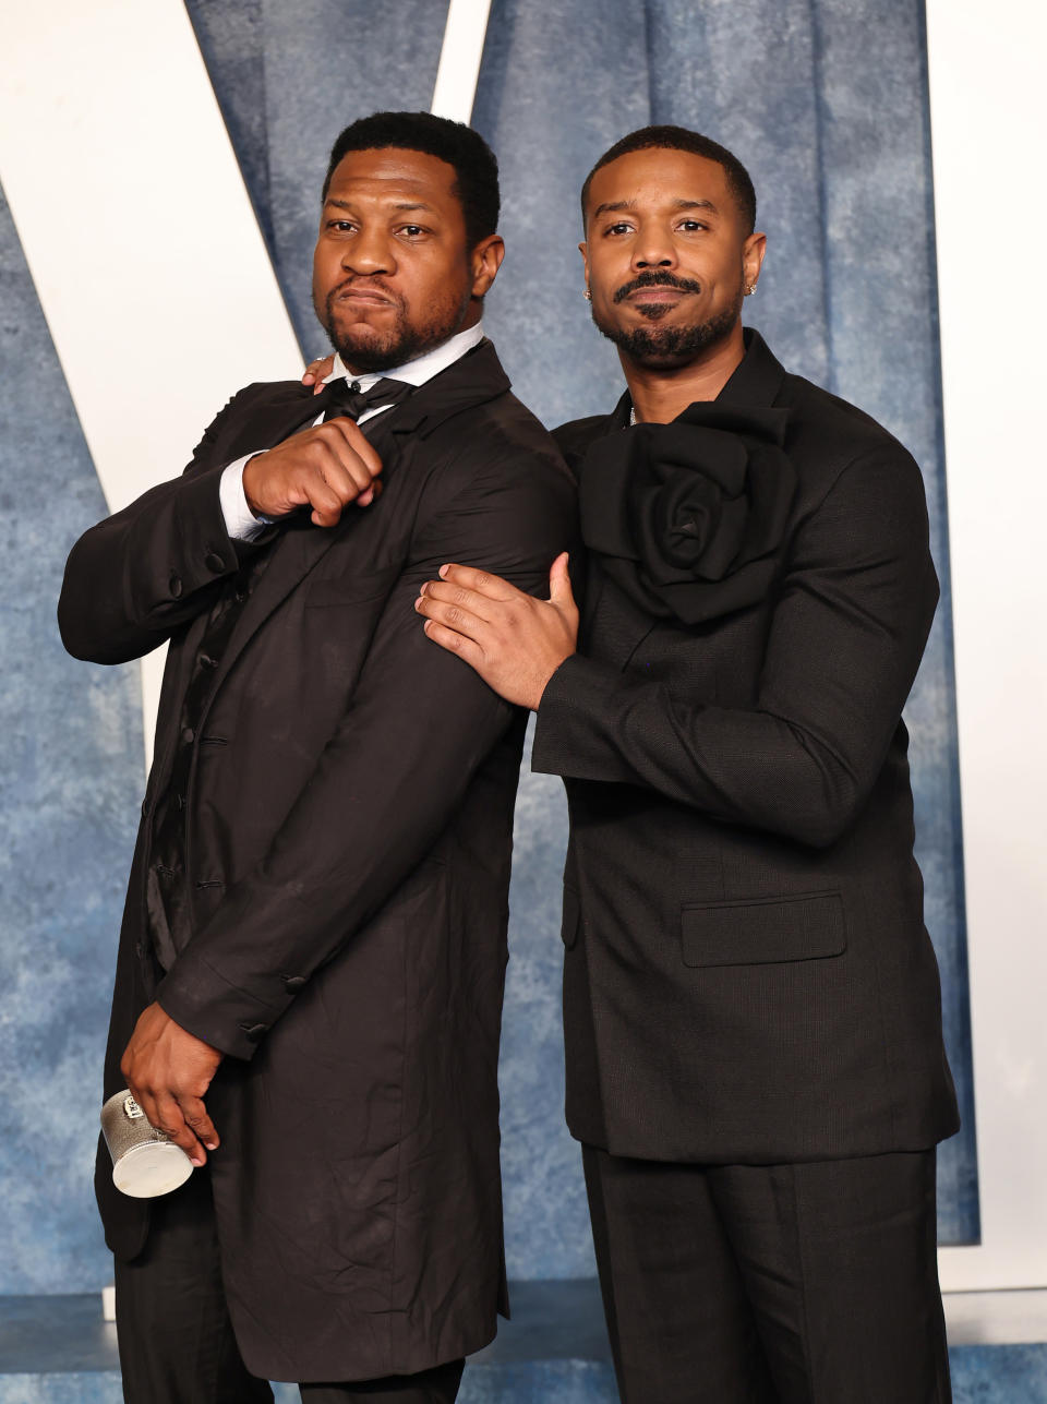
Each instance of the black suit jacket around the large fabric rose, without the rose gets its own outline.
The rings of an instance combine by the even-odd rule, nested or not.
[[[923,484],[747,340],[720,400],[786,409],[799,476],[776,583],[686,626],[594,560],[538,713],[571,813],[568,1125],[654,1160],[916,1150],[957,1127],[901,722],[938,600]],[[578,461],[627,423],[626,397],[557,437]]]

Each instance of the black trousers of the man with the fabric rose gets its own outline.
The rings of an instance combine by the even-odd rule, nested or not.
[[[623,1404],[952,1400],[933,1151],[582,1160]]]

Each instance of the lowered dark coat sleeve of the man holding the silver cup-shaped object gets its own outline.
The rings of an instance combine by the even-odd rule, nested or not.
[[[166,1012],[250,1057],[307,980],[436,841],[512,717],[417,626],[418,587],[449,552],[528,588],[570,538],[570,487],[539,461],[488,466],[415,536],[342,723],[257,868],[229,890],[159,990]],[[547,472],[547,476],[546,476]],[[291,988],[288,988],[291,977]]]

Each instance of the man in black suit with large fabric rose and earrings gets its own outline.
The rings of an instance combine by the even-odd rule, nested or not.
[[[957,1112],[901,722],[938,600],[919,470],[742,331],[765,237],[730,152],[636,132],[582,212],[629,389],[557,435],[581,633],[563,557],[549,602],[455,564],[417,608],[536,710],[567,783],[567,1119],[622,1398],[942,1404]]]

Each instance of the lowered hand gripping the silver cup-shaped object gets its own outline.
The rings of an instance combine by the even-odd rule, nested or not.
[[[142,1011],[121,1059],[128,1090],[159,1130],[181,1146],[194,1165],[205,1163],[206,1150],[218,1148],[204,1094],[222,1061],[222,1053],[187,1032],[159,1004]]]

